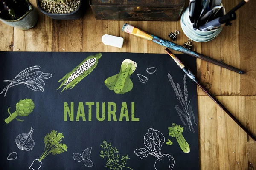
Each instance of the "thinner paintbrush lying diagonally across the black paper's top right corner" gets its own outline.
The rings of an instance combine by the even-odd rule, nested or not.
[[[213,95],[209,92],[209,90],[198,80],[196,79],[195,75],[188,69],[185,67],[185,65],[174,55],[172,54],[172,52],[166,48],[165,49],[167,51],[167,53],[172,57],[172,59],[177,63],[177,65],[186,73],[186,75],[192,79],[214,102],[217,103],[217,105],[219,105],[219,107],[222,108],[223,111],[225,111],[228,116],[230,116],[253,140],[256,141],[256,138],[253,136],[252,133],[249,132],[249,130],[247,130],[237,119],[235,116],[233,116],[232,113],[230,113],[230,111],[227,110],[227,108],[225,108],[224,105],[221,104],[221,102]]]

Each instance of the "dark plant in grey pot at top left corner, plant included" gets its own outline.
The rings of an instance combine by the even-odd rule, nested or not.
[[[9,26],[27,30],[37,23],[38,13],[29,0],[0,0],[0,20]]]

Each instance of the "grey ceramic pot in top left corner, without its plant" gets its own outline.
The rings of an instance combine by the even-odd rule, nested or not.
[[[8,24],[9,26],[19,28],[22,30],[28,30],[35,26],[35,24],[38,21],[38,12],[37,10],[32,6],[32,4],[29,2],[29,0],[26,0],[27,4],[29,5],[29,11],[24,14],[22,17],[20,17],[17,20],[5,20],[3,18],[0,18],[0,20],[3,23]]]

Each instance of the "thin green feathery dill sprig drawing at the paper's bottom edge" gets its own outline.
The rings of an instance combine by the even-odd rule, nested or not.
[[[122,170],[122,168],[127,168],[130,170],[130,167],[125,166],[127,164],[128,155],[122,156],[120,159],[119,150],[116,149],[116,147],[113,147],[110,142],[107,142],[106,140],[103,141],[102,144],[100,144],[100,147],[103,149],[100,151],[100,157],[104,159],[105,157],[108,159],[106,163],[106,167],[108,169],[112,170]]]

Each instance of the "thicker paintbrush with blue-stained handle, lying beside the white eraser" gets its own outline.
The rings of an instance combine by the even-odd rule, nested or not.
[[[157,43],[159,45],[163,45],[165,47],[171,48],[172,50],[180,51],[180,52],[188,54],[190,56],[203,59],[203,60],[205,60],[207,62],[211,62],[211,63],[213,63],[215,65],[219,65],[219,66],[221,66],[223,68],[227,68],[227,69],[229,69],[231,71],[235,71],[235,72],[237,72],[239,74],[244,74],[244,71],[242,71],[242,70],[240,70],[238,68],[235,68],[235,67],[233,67],[231,65],[227,65],[227,64],[225,64],[225,63],[223,63],[221,61],[218,61],[216,59],[212,59],[210,57],[207,57],[207,56],[205,56],[203,54],[200,54],[200,53],[197,53],[195,51],[189,50],[187,48],[184,48],[181,45],[177,45],[177,44],[175,44],[173,42],[170,42],[168,40],[165,40],[163,38],[157,37],[155,35],[148,34],[147,32],[145,32],[143,30],[140,30],[139,28],[136,28],[134,26],[131,26],[130,24],[125,23],[123,25],[122,31],[124,31],[126,33],[129,33],[129,34],[133,34],[133,35],[135,35],[137,37],[144,38],[144,39],[149,40],[149,41],[153,41],[153,42],[155,42],[155,43]]]

